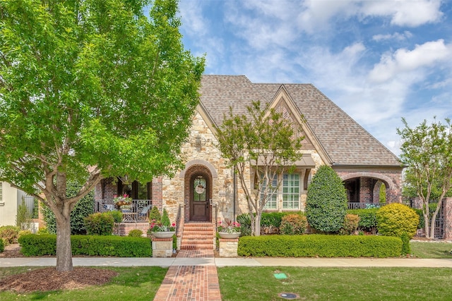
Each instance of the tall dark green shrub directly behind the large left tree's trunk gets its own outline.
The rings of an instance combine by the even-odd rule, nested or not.
[[[66,186],[66,197],[74,197],[77,195],[81,186],[75,182],[69,182]],[[47,223],[49,233],[57,233],[57,221],[52,209],[42,203],[42,214],[44,221]],[[85,234],[85,217],[94,212],[94,192],[91,191],[80,199],[71,211],[71,234]]]

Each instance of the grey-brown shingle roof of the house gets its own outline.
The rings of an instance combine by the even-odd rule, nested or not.
[[[234,113],[246,113],[246,106],[252,101],[271,102],[282,85],[255,84],[244,75],[203,75],[201,103],[213,122],[220,125],[230,106]],[[396,155],[314,85],[284,84],[284,87],[331,158],[331,164],[400,166]]]

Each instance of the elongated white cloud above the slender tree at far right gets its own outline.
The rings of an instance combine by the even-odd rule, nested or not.
[[[369,73],[369,80],[385,82],[400,76],[400,73],[409,73],[420,68],[434,66],[441,61],[450,61],[451,57],[451,44],[444,44],[443,39],[416,45],[412,51],[398,49],[393,54],[386,53],[381,56],[380,62]]]

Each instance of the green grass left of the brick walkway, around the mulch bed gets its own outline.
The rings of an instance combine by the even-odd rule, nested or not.
[[[0,268],[0,279],[29,269],[40,268],[40,266]],[[166,268],[159,266],[108,267],[105,269],[112,269],[119,273],[105,285],[83,290],[55,290],[44,293],[0,292],[0,300],[153,300],[167,272]]]

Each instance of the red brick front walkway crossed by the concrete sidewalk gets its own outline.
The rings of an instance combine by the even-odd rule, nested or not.
[[[212,258],[213,250],[180,250],[178,258]],[[217,267],[170,266],[154,301],[221,301]]]

